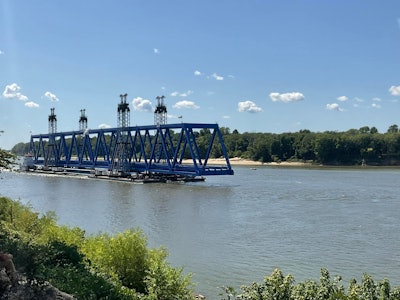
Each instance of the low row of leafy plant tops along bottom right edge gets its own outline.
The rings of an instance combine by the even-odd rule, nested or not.
[[[372,277],[364,274],[361,285],[351,279],[347,292],[341,284],[341,277],[333,280],[327,269],[321,269],[319,282],[306,280],[295,284],[289,274],[283,276],[279,269],[275,269],[271,276],[265,277],[262,283],[252,283],[241,287],[242,293],[233,288],[225,289],[223,299],[240,300],[398,300],[400,288],[391,290],[389,280],[384,279],[375,283]]]

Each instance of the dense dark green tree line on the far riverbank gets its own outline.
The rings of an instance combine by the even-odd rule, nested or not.
[[[399,165],[400,130],[392,125],[386,133],[376,127],[364,126],[344,132],[311,132],[304,129],[285,133],[239,133],[220,128],[229,157],[240,157],[261,162],[304,161],[333,165]],[[202,155],[208,149],[211,131],[196,132],[196,142]],[[178,134],[174,134],[178,139]],[[15,145],[12,153],[24,155],[29,143]],[[188,155],[190,155],[188,153]],[[222,156],[219,143],[214,143],[212,158]]]

